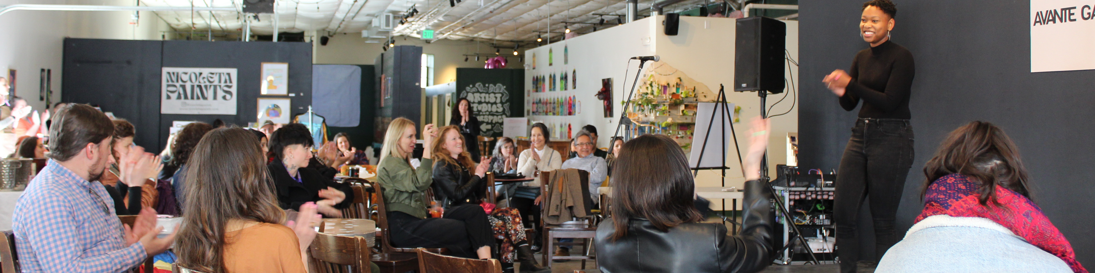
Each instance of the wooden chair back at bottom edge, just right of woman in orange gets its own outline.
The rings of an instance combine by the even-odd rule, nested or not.
[[[371,272],[372,258],[369,242],[362,237],[338,236],[316,233],[311,253],[312,269],[319,273],[367,273]]]

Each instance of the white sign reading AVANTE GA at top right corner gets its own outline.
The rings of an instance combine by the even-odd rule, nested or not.
[[[1030,0],[1030,72],[1095,69],[1095,1]]]

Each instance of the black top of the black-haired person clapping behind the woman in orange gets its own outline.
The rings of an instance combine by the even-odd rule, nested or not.
[[[323,200],[320,198],[320,190],[327,187],[341,190],[346,194],[346,199],[342,203],[335,204],[335,209],[346,209],[346,206],[349,206],[354,202],[354,191],[350,190],[348,185],[335,182],[320,175],[315,169],[298,168],[297,175],[300,176],[300,182],[297,182],[296,179],[289,176],[289,170],[285,168],[285,164],[281,164],[280,161],[270,162],[269,165],[266,165],[266,168],[270,171],[270,178],[274,179],[274,189],[277,193],[278,205],[283,210],[291,209],[300,211],[301,204]]]

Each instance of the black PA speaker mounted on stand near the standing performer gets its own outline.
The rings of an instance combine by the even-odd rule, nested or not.
[[[783,93],[787,24],[753,16],[738,19],[734,58],[734,91]]]

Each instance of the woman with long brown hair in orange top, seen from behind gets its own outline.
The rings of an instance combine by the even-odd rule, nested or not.
[[[212,130],[187,166],[187,202],[174,248],[178,265],[208,273],[307,272],[316,205],[301,205],[296,223],[281,225],[285,212],[254,134]]]

